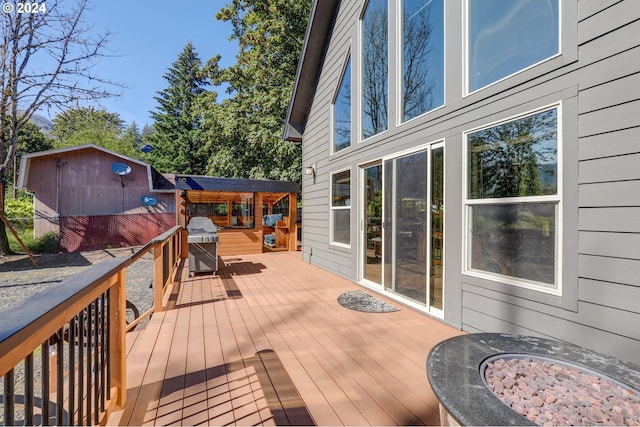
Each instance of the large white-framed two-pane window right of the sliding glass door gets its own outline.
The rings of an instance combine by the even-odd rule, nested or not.
[[[466,135],[468,272],[558,290],[558,110]]]

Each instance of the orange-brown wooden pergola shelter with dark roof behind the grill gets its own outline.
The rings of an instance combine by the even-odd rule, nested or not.
[[[299,192],[300,186],[289,181],[176,175],[177,224],[186,226],[193,216],[211,218],[219,227],[220,255],[295,251]],[[288,209],[282,218],[264,224],[263,218],[286,198]],[[267,234],[274,235],[273,247],[264,245]]]

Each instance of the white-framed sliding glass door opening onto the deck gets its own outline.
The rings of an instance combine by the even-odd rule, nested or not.
[[[383,159],[361,173],[363,281],[441,313],[443,145]]]

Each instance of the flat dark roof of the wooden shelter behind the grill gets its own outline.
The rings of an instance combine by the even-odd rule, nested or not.
[[[299,193],[300,185],[297,182],[292,181],[176,175],[176,189],[256,193]]]

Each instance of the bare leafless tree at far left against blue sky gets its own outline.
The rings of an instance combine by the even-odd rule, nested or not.
[[[83,101],[115,96],[118,84],[92,69],[111,56],[111,33],[93,33],[84,21],[88,0],[6,1],[0,14],[0,211],[4,184],[18,143],[18,132],[37,111],[63,110]],[[106,89],[105,89],[106,88]],[[7,131],[8,129],[8,131]],[[10,253],[0,222],[0,254]]]

